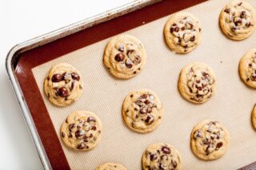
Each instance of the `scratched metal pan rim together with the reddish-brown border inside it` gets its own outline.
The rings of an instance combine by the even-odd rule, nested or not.
[[[70,164],[54,130],[32,69],[66,53],[205,1],[138,0],[22,42],[10,49],[6,57],[6,70],[45,169],[70,169]],[[122,26],[123,23],[126,26]],[[253,163],[244,169],[256,169],[255,167],[256,164]]]

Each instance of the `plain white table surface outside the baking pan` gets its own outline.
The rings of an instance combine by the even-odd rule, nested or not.
[[[7,77],[10,48],[131,1],[0,1],[0,169],[43,169]]]

